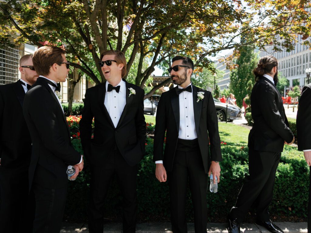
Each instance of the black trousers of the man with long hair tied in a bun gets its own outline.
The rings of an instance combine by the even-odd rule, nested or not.
[[[250,144],[248,151],[249,176],[239,192],[235,206],[230,210],[229,217],[243,222],[248,209],[256,201],[257,220],[268,222],[268,208],[272,202],[275,174],[281,153],[256,151],[253,144]]]

